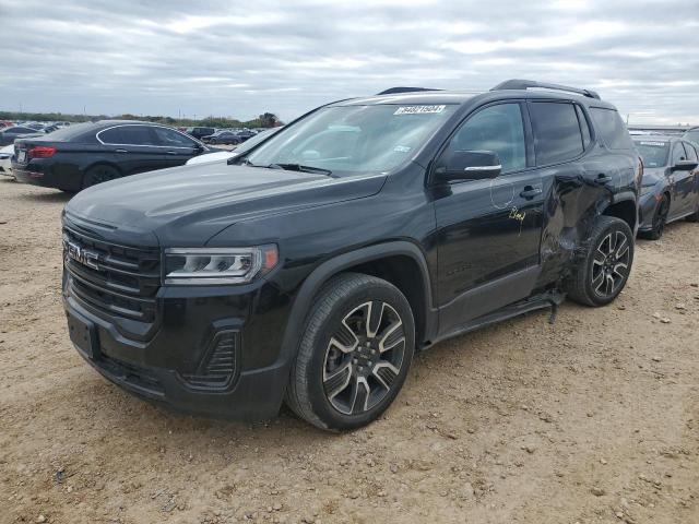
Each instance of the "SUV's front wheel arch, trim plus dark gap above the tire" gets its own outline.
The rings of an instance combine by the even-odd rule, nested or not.
[[[437,312],[433,308],[431,283],[423,251],[408,241],[386,242],[342,253],[311,272],[292,306],[282,343],[282,358],[289,361],[294,358],[308,311],[318,293],[333,276],[347,272],[383,278],[405,295],[415,317],[417,347],[436,332]]]

